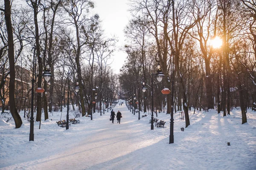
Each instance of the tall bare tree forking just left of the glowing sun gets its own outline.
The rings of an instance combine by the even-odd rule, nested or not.
[[[196,26],[192,29],[190,34],[193,38],[198,40],[200,49],[205,62],[205,75],[206,75],[206,96],[207,96],[207,109],[214,108],[214,99],[212,95],[212,75],[210,60],[212,58],[213,48],[209,47],[209,41],[212,37],[215,37],[215,30],[212,30],[212,26],[215,23],[214,13],[216,6],[214,0],[193,0],[191,4],[192,15],[195,20],[198,20]],[[214,27],[213,29],[216,29]],[[197,35],[197,36],[195,36]]]

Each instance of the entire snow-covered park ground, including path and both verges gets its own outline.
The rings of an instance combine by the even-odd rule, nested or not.
[[[14,122],[0,119],[0,169],[256,170],[256,112],[248,111],[248,123],[241,125],[240,110],[226,117],[213,110],[191,111],[184,132],[180,127],[185,127],[185,120],[175,113],[175,143],[169,144],[169,114],[158,113],[157,119],[166,121],[165,128],[150,130],[150,115],[138,120],[138,114],[125,105],[116,105],[114,111],[118,110],[121,124],[109,121],[109,111],[102,116],[94,113],[93,120],[80,117],[80,124],[69,130],[58,127],[61,113],[54,112],[40,130],[35,123],[31,142],[29,122],[23,120],[23,126],[15,129]],[[61,119],[66,119],[66,112]]]

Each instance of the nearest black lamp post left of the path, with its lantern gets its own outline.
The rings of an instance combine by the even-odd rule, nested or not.
[[[32,68],[32,89],[31,89],[31,117],[30,117],[30,131],[29,141],[34,141],[34,88],[35,88],[35,47],[33,55],[33,68]],[[33,49],[32,48],[32,49]],[[52,74],[50,73],[49,65],[47,65],[42,77],[48,82]]]

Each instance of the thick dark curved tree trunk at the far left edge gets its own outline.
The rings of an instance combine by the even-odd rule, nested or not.
[[[10,65],[10,82],[9,82],[9,104],[10,111],[15,122],[15,128],[19,128],[22,125],[22,120],[16,108],[15,103],[15,59],[14,59],[14,43],[12,33],[12,20],[11,20],[11,5],[9,0],[4,0],[5,7],[5,20],[6,29],[8,35],[8,57]]]

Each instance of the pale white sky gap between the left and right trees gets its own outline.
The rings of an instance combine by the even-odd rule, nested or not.
[[[106,37],[115,35],[118,38],[116,52],[113,54],[111,68],[114,73],[119,73],[119,69],[125,62],[126,54],[120,48],[125,44],[123,30],[128,23],[130,13],[128,11],[128,0],[93,0],[94,13],[98,13],[102,20],[102,28],[105,30]]]

